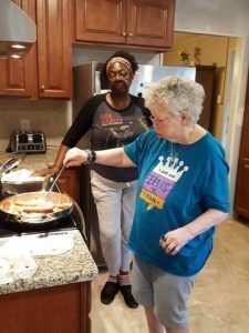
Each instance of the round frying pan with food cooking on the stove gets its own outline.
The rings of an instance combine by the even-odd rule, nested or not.
[[[45,205],[54,206],[54,211],[50,212],[17,212],[14,208],[22,203],[22,206],[30,206],[30,202],[43,203]],[[58,192],[48,192],[39,191],[39,192],[29,192],[11,195],[0,202],[0,219],[4,219],[9,222],[17,223],[29,223],[29,224],[38,224],[38,223],[50,223],[55,220],[65,218],[72,213],[73,210],[73,200],[64,194]]]

